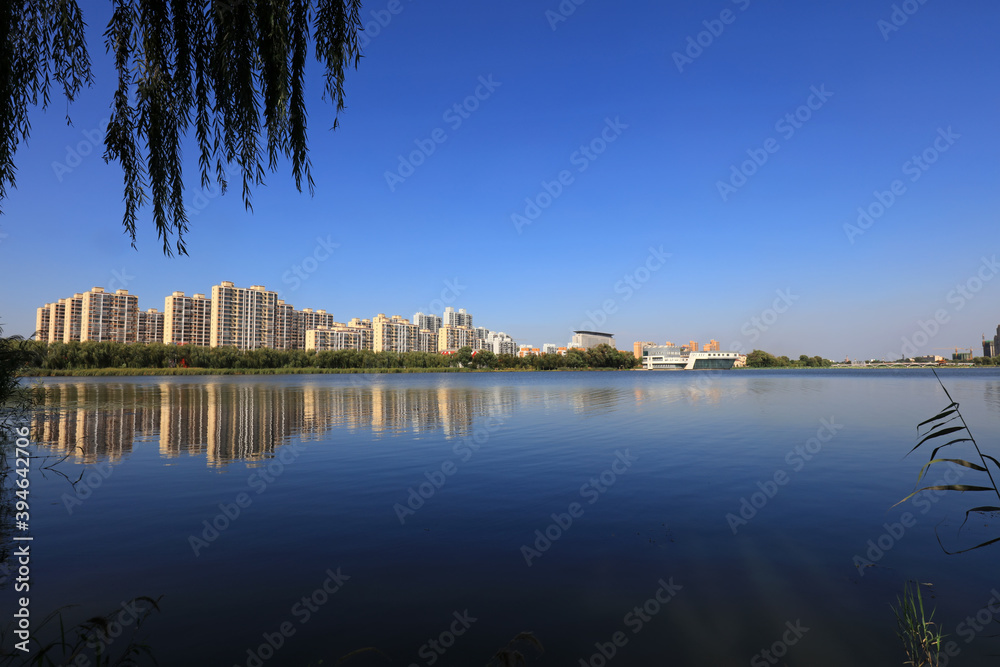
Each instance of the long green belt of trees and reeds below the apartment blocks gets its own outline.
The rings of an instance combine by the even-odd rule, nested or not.
[[[23,375],[199,375],[456,370],[628,369],[639,360],[609,345],[569,350],[565,356],[518,357],[463,347],[454,354],[371,350],[239,350],[161,343],[23,342]]]

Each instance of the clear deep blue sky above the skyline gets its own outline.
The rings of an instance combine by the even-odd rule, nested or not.
[[[336,131],[319,70],[310,78],[316,195],[282,163],[250,214],[238,191],[199,197],[192,159],[180,258],[161,255],[148,209],[129,246],[121,171],[100,147],[54,166],[88,148],[115,83],[110,3],[81,4],[96,81],[69,108],[73,127],[61,100],[31,115],[0,217],[5,333],[30,334],[45,302],[120,287],[115,272],[144,309],[232,280],[343,320],[412,317],[457,282],[447,305],[539,346],[590,322],[621,348],[715,338],[865,358],[898,354],[936,313],[919,351],[981,352],[1000,324],[1000,267],[982,261],[1000,254],[995,2],[897,3],[896,26],[893,3],[870,0],[566,0],[568,16],[557,0],[400,0],[394,15],[375,0],[365,22],[387,24],[366,35]],[[476,108],[449,112],[463,103]],[[434,136],[400,172],[398,156]],[[925,152],[933,164],[912,162]],[[763,164],[733,177],[754,156]],[[894,198],[883,211],[876,191]],[[535,215],[526,199],[546,206]],[[857,226],[859,207],[880,215]],[[339,245],[295,285],[288,272],[318,238]],[[785,312],[769,311],[776,299]]]

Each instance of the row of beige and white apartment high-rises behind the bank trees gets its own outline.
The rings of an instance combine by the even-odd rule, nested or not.
[[[371,350],[454,353],[463,347],[516,354],[516,341],[503,331],[474,326],[473,314],[445,306],[442,315],[417,312],[413,322],[378,313],[337,322],[325,309],[303,308],[279,299],[264,285],[240,287],[223,280],[205,293],[164,297],[163,311],[141,310],[127,289],[95,286],[87,292],[36,308],[33,338],[55,342],[164,343],[235,347],[241,350]],[[562,348],[565,352],[565,348]]]

